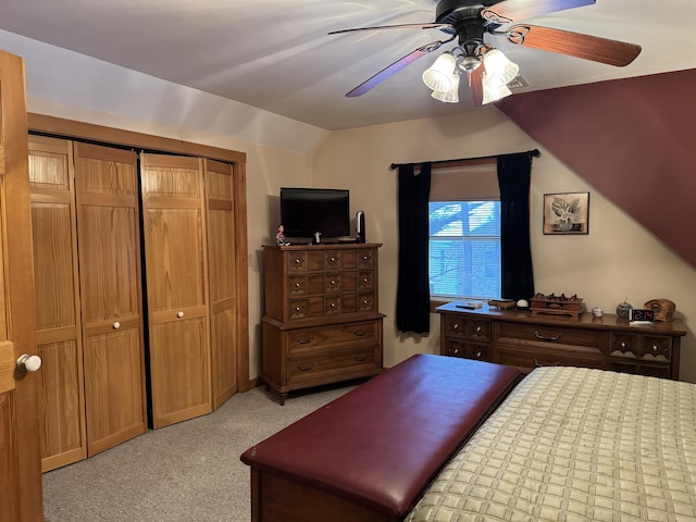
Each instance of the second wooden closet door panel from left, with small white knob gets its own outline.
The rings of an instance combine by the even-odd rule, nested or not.
[[[88,456],[147,430],[137,156],[74,144]]]

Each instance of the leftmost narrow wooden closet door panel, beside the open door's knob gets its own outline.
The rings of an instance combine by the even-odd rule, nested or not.
[[[87,458],[73,145],[29,136],[41,470]]]

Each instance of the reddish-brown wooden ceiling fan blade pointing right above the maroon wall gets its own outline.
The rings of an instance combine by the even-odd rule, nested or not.
[[[499,34],[499,33],[498,33]],[[641,46],[535,25],[513,25],[505,32],[512,44],[623,67],[641,53]]]

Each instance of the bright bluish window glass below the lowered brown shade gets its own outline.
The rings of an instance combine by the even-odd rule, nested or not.
[[[500,201],[431,201],[431,296],[500,297]]]

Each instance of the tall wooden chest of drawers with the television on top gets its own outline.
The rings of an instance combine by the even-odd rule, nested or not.
[[[382,371],[378,244],[264,246],[263,382],[281,395]]]

